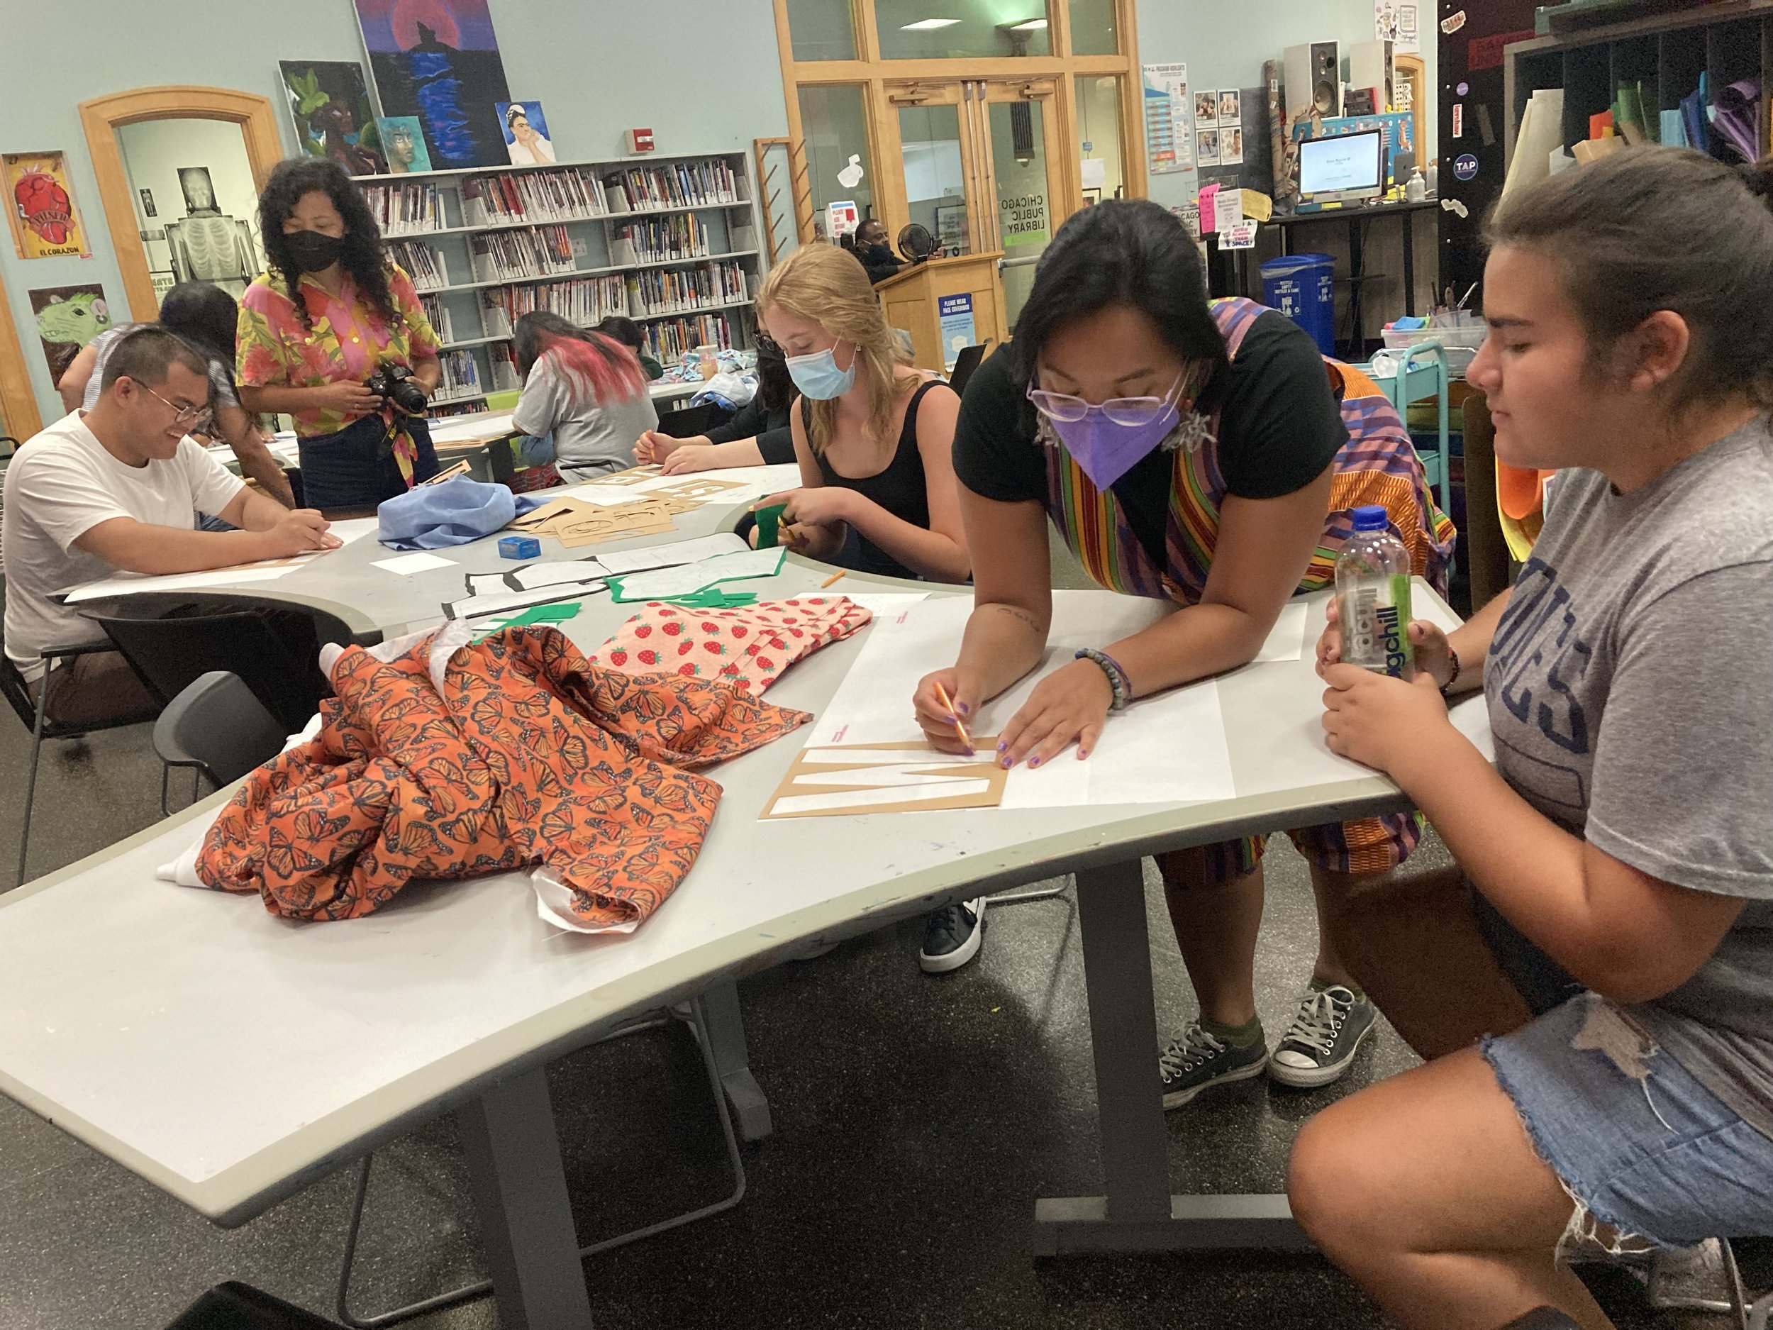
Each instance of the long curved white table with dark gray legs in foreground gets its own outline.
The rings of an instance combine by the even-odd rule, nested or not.
[[[683,534],[736,516],[684,521]],[[241,591],[323,603],[378,631],[431,621],[461,594],[457,569],[395,578],[356,544]],[[496,566],[480,546],[454,553]],[[771,583],[745,585],[787,596],[826,573],[791,555]],[[379,576],[410,585],[383,589]],[[902,585],[851,573],[837,589]],[[564,630],[589,649],[628,614],[592,596]],[[1319,596],[1307,644],[1321,624]],[[817,711],[863,637],[796,665],[769,700]],[[1215,803],[762,823],[800,748],[771,743],[711,773],[725,798],[695,869],[626,938],[544,927],[518,874],[410,888],[346,924],[294,924],[250,897],[152,881],[190,841],[191,810],[0,901],[0,1091],[220,1224],[456,1112],[502,1323],[573,1330],[590,1314],[548,1059],[808,942],[1076,872],[1105,1193],[1039,1201],[1041,1250],[1303,1247],[1284,1195],[1168,1192],[1140,857],[1390,812],[1402,798],[1323,750],[1308,651],[1218,688],[1239,794]],[[1470,708],[1463,722],[1480,731]]]

